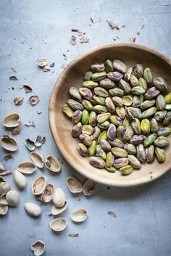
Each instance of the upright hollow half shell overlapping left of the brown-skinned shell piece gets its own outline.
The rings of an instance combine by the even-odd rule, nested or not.
[[[46,188],[46,177],[39,176],[32,183],[32,192],[35,196],[42,194]]]

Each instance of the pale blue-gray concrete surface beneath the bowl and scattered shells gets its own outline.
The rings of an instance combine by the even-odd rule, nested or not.
[[[90,22],[93,18],[94,23]],[[99,21],[101,17],[101,21]],[[111,30],[106,20],[120,25],[120,30]],[[171,1],[0,1],[0,118],[11,112],[18,112],[22,118],[22,131],[16,136],[19,150],[11,160],[5,162],[5,152],[1,149],[1,162],[12,171],[17,163],[29,160],[28,150],[23,144],[27,138],[36,139],[38,134],[46,136],[46,144],[38,150],[46,157],[54,154],[62,162],[57,146],[51,137],[48,123],[48,104],[51,90],[62,72],[62,64],[70,63],[78,54],[102,44],[129,42],[136,37],[138,44],[151,46],[171,57]],[[91,24],[91,25],[90,25]],[[122,28],[125,25],[125,28]],[[144,28],[141,29],[142,25]],[[75,46],[69,44],[71,28],[79,28],[90,38],[88,44]],[[136,32],[140,31],[137,36]],[[113,38],[119,36],[114,41]],[[64,60],[62,54],[67,55]],[[49,73],[43,73],[36,66],[36,59],[44,57],[49,64],[55,62]],[[12,71],[17,70],[17,74]],[[9,80],[11,75],[17,81]],[[28,98],[20,89],[21,84],[33,87],[34,94],[41,97],[35,106],[30,106]],[[14,90],[12,90],[14,87]],[[21,106],[14,106],[15,96],[24,96]],[[41,110],[38,115],[36,110]],[[28,128],[25,121],[34,120],[36,128]],[[0,133],[7,133],[0,125]],[[68,220],[68,227],[60,234],[54,234],[49,228],[48,212],[51,204],[43,205],[41,218],[33,219],[23,209],[25,202],[36,202],[30,185],[34,178],[46,175],[49,182],[64,189],[69,201],[68,209],[62,214]],[[20,192],[20,204],[10,208],[0,218],[0,255],[33,255],[30,244],[42,239],[46,244],[45,255],[59,256],[169,256],[171,255],[171,194],[170,173],[159,180],[130,189],[96,186],[92,197],[83,194],[73,196],[67,189],[65,179],[75,176],[85,178],[72,170],[63,161],[62,172],[52,176],[46,168],[37,170],[28,177],[28,187]],[[17,189],[12,176],[7,176],[12,189]],[[18,189],[17,189],[18,191]],[[39,202],[38,202],[39,204]],[[39,204],[40,205],[40,204]],[[87,220],[75,225],[70,220],[73,210],[85,207]],[[117,218],[107,214],[112,210]],[[79,233],[71,238],[68,234]]]

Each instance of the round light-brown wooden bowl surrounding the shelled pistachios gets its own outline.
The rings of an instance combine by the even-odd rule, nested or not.
[[[78,153],[78,140],[70,135],[72,122],[62,113],[62,106],[70,99],[69,88],[82,86],[83,76],[94,62],[104,62],[105,59],[121,59],[126,65],[133,66],[142,63],[150,67],[154,76],[162,76],[167,81],[171,91],[171,63],[158,51],[136,44],[108,44],[97,47],[85,54],[79,55],[68,65],[59,76],[51,93],[49,103],[49,123],[55,143],[65,160],[79,173],[97,183],[108,186],[137,186],[159,178],[170,170],[170,147],[167,148],[167,158],[159,164],[154,160],[151,164],[142,164],[141,170],[134,170],[130,176],[121,176],[120,172],[109,173],[107,170],[93,168],[88,157]]]

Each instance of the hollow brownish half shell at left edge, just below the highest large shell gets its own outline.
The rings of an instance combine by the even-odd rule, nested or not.
[[[11,135],[1,137],[1,146],[9,152],[14,152],[18,149],[17,141]]]

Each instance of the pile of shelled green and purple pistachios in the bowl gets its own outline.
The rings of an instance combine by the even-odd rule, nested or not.
[[[95,168],[122,175],[140,169],[141,163],[164,162],[165,127],[171,120],[171,93],[161,77],[154,78],[149,67],[127,67],[107,59],[91,65],[83,86],[70,88],[62,110],[74,126],[71,135],[78,138],[78,152]]]

